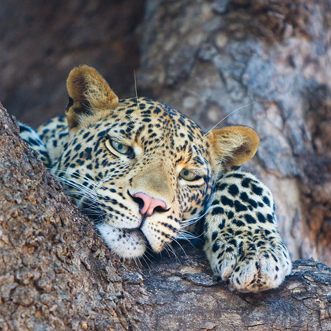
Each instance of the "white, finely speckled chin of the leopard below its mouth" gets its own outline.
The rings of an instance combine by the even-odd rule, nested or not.
[[[146,239],[137,229],[119,229],[106,223],[96,226],[108,248],[120,258],[134,259],[143,256]]]

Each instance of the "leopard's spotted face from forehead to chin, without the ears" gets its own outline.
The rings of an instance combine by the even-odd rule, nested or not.
[[[203,133],[146,98],[122,100],[90,120],[69,133],[55,173],[66,169],[68,186],[72,180],[86,187],[80,204],[119,255],[139,256],[146,242],[160,252],[210,195],[214,176]],[[155,205],[148,209],[143,195]]]

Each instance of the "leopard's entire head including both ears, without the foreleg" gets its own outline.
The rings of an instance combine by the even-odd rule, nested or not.
[[[203,214],[218,175],[249,160],[259,143],[248,127],[204,134],[167,105],[119,100],[88,66],[70,72],[67,90],[66,118],[39,130],[54,147],[52,172],[122,258],[148,246],[160,252],[180,236]]]

